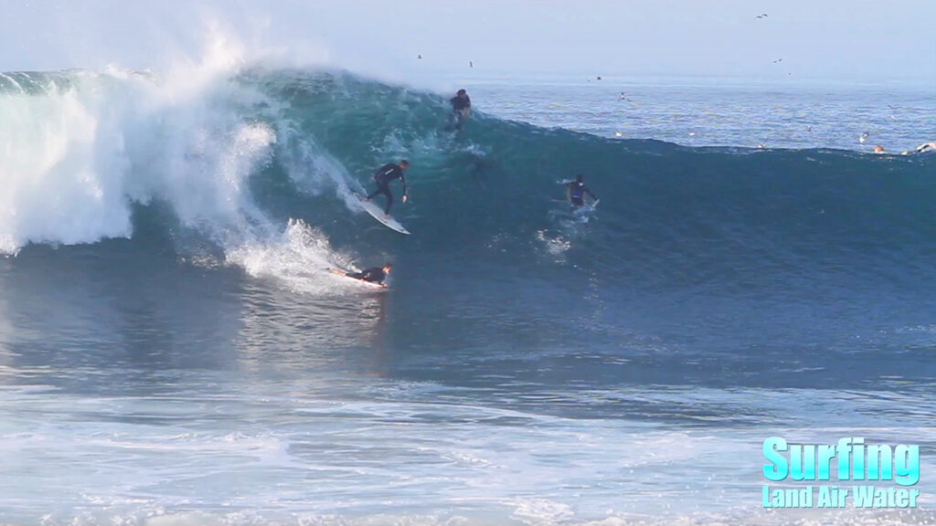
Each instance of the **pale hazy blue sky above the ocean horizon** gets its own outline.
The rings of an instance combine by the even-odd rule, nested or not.
[[[4,71],[166,67],[180,57],[196,60],[214,22],[248,52],[276,51],[292,64],[327,59],[401,79],[537,72],[796,76],[912,81],[936,90],[934,0],[0,0],[0,6]],[[762,13],[768,16],[755,18]]]

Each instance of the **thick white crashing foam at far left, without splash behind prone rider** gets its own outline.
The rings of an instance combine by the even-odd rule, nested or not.
[[[128,237],[131,201],[186,225],[250,215],[244,182],[275,136],[228,110],[259,95],[227,82],[241,61],[218,46],[164,76],[109,67],[0,96],[0,251]]]

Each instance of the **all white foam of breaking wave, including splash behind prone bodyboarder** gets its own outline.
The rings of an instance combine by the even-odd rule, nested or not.
[[[72,71],[30,77],[38,93],[0,95],[0,254],[128,238],[133,203],[157,202],[251,275],[352,267],[320,232],[293,223],[284,233],[256,206],[249,179],[278,148],[302,190],[334,189],[349,209],[355,200],[341,163],[237,79],[254,58],[210,24],[201,54],[166,72]]]

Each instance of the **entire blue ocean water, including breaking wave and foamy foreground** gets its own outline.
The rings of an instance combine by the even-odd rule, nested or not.
[[[932,93],[672,82],[617,137],[624,88],[468,87],[453,135],[344,73],[0,77],[0,523],[934,521],[936,158],[841,131]],[[350,197],[401,157],[409,237]],[[769,436],[921,446],[919,507],[764,510]]]

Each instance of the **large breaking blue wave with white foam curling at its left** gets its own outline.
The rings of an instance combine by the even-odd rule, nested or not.
[[[183,256],[274,274],[263,262],[295,257],[300,242],[315,263],[419,252],[470,270],[562,280],[575,267],[610,286],[727,295],[934,277],[931,155],[692,149],[483,113],[453,137],[442,96],[264,68],[11,73],[0,115],[7,255],[147,231]],[[394,212],[415,235],[365,236],[379,227],[349,191],[401,157],[412,199]],[[575,173],[602,199],[590,218],[555,202]],[[290,217],[304,225],[284,234]]]

